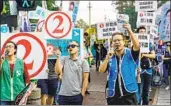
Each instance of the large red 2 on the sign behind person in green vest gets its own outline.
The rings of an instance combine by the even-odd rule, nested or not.
[[[31,49],[32,49],[31,44],[27,40],[20,40],[20,41],[17,42],[17,45],[19,45],[19,44],[23,45],[25,47],[25,49],[26,49],[26,52],[25,52],[25,55],[24,55],[24,58],[23,58],[25,60],[29,56],[29,54],[31,52]],[[34,60],[31,63],[26,63],[26,66],[27,66],[28,70],[32,70],[33,63],[34,63]]]

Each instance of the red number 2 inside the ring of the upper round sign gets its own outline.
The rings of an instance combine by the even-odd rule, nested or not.
[[[60,27],[60,26],[62,25],[62,23],[63,23],[63,18],[62,18],[62,16],[57,15],[56,17],[53,18],[53,20],[56,20],[56,19],[59,20],[59,24],[58,24],[58,26],[54,29],[53,33],[63,33],[64,28],[59,29],[59,27]]]

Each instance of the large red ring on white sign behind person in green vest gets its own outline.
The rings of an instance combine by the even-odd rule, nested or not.
[[[46,48],[44,47],[43,43],[35,36],[33,36],[32,34],[29,34],[29,33],[18,33],[18,34],[15,34],[13,35],[12,37],[8,38],[6,40],[6,42],[4,43],[4,45],[2,46],[2,53],[4,53],[4,50],[5,50],[5,45],[7,42],[9,41],[12,41],[14,38],[16,37],[21,37],[21,36],[26,36],[26,37],[30,37],[30,38],[33,38],[35,39],[39,44],[40,46],[42,47],[42,50],[43,50],[43,54],[44,54],[44,58],[43,58],[43,62],[42,62],[42,65],[41,67],[33,74],[30,75],[30,77],[35,77],[36,75],[38,75],[42,70],[43,70],[43,67],[46,65],[46,59],[47,59],[47,55],[46,55]]]

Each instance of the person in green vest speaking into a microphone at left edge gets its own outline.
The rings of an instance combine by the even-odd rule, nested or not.
[[[0,64],[0,105],[14,105],[17,95],[30,83],[26,64],[16,54],[17,45],[7,42]]]

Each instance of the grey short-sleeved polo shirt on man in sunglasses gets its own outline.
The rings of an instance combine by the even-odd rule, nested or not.
[[[74,96],[81,93],[84,72],[90,72],[85,59],[72,60],[69,56],[61,58],[63,76],[59,95]]]

